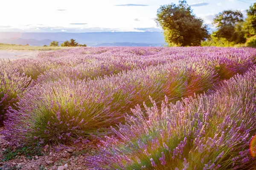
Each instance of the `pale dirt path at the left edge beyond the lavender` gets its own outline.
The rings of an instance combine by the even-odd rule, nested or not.
[[[20,59],[36,57],[39,51],[18,51],[18,50],[0,50],[0,59]]]

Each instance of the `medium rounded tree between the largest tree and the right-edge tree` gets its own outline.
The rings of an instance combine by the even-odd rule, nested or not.
[[[241,22],[243,22],[243,14],[241,11],[226,10],[220,12],[219,14],[215,15],[212,22],[212,24],[217,27],[215,36],[218,38],[226,38],[230,42],[236,41],[236,38],[241,36],[238,35],[238,33],[235,34],[239,31],[240,27],[237,27],[237,25],[239,23],[241,24]]]

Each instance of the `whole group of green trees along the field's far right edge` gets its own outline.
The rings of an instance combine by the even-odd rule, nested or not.
[[[250,6],[247,17],[241,11],[225,10],[212,21],[216,31],[209,34],[204,21],[192,13],[186,0],[179,4],[160,6],[156,23],[163,28],[168,46],[233,46],[244,44],[256,46],[256,3]]]

